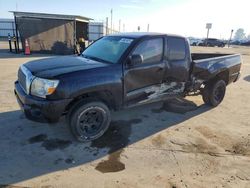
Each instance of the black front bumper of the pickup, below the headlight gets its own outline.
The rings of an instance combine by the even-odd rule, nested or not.
[[[14,93],[25,116],[37,122],[57,122],[71,102],[71,99],[46,100],[27,95],[18,81],[15,82]]]

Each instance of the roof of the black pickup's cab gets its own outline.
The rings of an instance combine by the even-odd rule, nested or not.
[[[109,36],[119,36],[119,37],[128,37],[128,38],[141,38],[141,37],[146,37],[146,36],[170,36],[170,37],[181,37],[184,38],[183,36],[180,35],[173,35],[173,34],[165,34],[165,33],[153,33],[153,32],[127,32],[127,33],[115,33],[111,34]]]

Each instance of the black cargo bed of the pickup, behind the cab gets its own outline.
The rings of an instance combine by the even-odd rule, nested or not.
[[[192,74],[196,79],[206,81],[223,72],[229,84],[240,74],[240,54],[194,53],[191,57]]]

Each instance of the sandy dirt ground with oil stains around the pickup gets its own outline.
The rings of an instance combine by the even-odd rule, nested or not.
[[[172,101],[184,111],[171,103],[123,110],[86,144],[72,138],[63,118],[34,123],[19,110],[18,67],[45,57],[1,52],[0,187],[250,187],[250,48],[192,51],[242,54],[242,76],[220,106],[189,97]]]

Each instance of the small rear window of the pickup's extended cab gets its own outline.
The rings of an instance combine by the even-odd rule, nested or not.
[[[182,38],[169,38],[169,60],[183,60],[186,57],[186,43]]]

